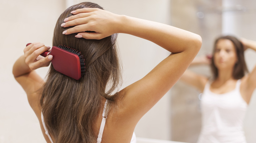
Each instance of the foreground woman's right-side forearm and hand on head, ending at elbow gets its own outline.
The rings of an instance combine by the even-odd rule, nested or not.
[[[80,32],[76,35],[77,38],[102,39],[114,33],[126,33],[150,40],[172,53],[183,52],[188,44],[195,43],[195,41],[201,46],[199,35],[170,25],[117,15],[98,8],[82,8],[72,13],[75,15],[66,18],[61,26],[76,25],[63,31],[63,34]],[[174,45],[169,45],[169,43]]]

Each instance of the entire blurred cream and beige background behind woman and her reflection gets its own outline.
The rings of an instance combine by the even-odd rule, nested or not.
[[[39,122],[26,94],[12,76],[12,65],[25,45],[40,41],[52,46],[53,29],[59,15],[81,0],[0,0],[0,143],[45,143]],[[91,0],[105,10],[176,26],[201,35],[198,56],[212,53],[214,39],[221,34],[256,40],[254,0]],[[121,88],[139,80],[170,53],[158,45],[127,34],[118,36],[123,66]],[[249,71],[256,53],[245,51]],[[208,67],[191,70],[210,76]],[[45,77],[48,67],[37,72]],[[137,137],[195,143],[201,128],[200,93],[178,82],[138,123]],[[255,93],[254,93],[255,94]],[[256,97],[245,117],[248,143],[255,143]]]

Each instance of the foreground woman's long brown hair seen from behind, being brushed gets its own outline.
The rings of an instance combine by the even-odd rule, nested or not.
[[[50,66],[40,103],[46,128],[55,143],[96,142],[98,133],[94,127],[100,116],[102,97],[108,99],[108,109],[115,107],[117,94],[111,94],[120,83],[117,34],[101,40],[78,39],[77,33],[62,34],[70,28],[60,26],[63,20],[78,8],[103,9],[95,3],[83,2],[66,9],[56,23],[53,46],[62,44],[80,51],[85,58],[86,73],[75,80]]]

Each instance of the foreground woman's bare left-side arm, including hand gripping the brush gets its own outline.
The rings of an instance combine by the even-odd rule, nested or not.
[[[19,57],[13,65],[12,73],[15,80],[22,86],[27,93],[30,106],[39,116],[39,99],[37,91],[44,84],[43,79],[34,71],[35,69],[43,66],[48,66],[49,56],[38,59],[37,57],[47,51],[48,47],[42,43],[32,43],[24,49],[24,55]],[[50,56],[51,57],[51,56]]]

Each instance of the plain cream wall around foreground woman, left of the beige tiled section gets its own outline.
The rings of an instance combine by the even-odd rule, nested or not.
[[[169,0],[91,2],[117,14],[169,24]],[[55,23],[65,8],[64,0],[0,1],[0,143],[45,142],[26,94],[12,76],[12,65],[28,42],[52,45]],[[119,34],[118,45],[123,63],[123,87],[142,78],[169,54],[154,43],[125,34]],[[37,71],[44,77],[47,70]],[[167,95],[141,119],[135,129],[138,137],[170,139],[169,103]]]

